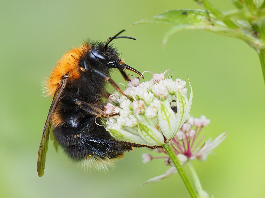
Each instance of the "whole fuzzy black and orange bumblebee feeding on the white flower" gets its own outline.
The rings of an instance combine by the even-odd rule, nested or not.
[[[45,169],[48,139],[52,128],[51,139],[56,148],[58,145],[76,162],[85,161],[95,167],[105,167],[112,164],[111,159],[122,158],[125,151],[133,147],[154,146],[139,145],[131,142],[117,141],[105,130],[100,117],[117,116],[119,113],[107,114],[102,98],[111,94],[105,91],[106,82],[123,94],[119,86],[111,79],[112,68],[120,71],[126,81],[130,81],[125,70],[138,75],[139,71],[125,64],[119,58],[118,50],[109,45],[113,39],[126,38],[109,37],[106,43],[83,42],[81,47],[73,48],[58,61],[46,84],[47,96],[53,95],[51,107],[43,129],[38,150],[37,171],[43,176]],[[129,97],[129,96],[127,96]]]

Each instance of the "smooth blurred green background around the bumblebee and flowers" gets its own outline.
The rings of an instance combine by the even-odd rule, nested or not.
[[[212,1],[221,10],[229,1]],[[82,40],[105,40],[126,29],[115,46],[139,71],[174,70],[194,91],[192,116],[211,123],[206,139],[228,131],[227,139],[206,162],[193,162],[203,188],[214,197],[264,197],[265,90],[256,52],[241,40],[206,31],[173,35],[168,27],[131,26],[169,9],[198,8],[193,1],[2,1],[0,197],[189,197],[178,174],[140,186],[163,174],[163,160],[142,164],[145,149],[126,153],[107,173],[83,171],[50,144],[45,174],[37,174],[37,151],[51,100],[43,82],[56,61]],[[112,75],[123,82],[121,75]],[[146,73],[149,79],[151,74]],[[205,139],[205,140],[206,140]]]

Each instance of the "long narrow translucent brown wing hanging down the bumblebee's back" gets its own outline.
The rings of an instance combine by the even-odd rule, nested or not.
[[[51,107],[42,132],[41,144],[39,145],[39,151],[38,151],[38,163],[37,163],[37,170],[39,177],[43,176],[45,169],[46,153],[48,150],[48,141],[51,129],[51,124],[50,124],[51,115],[54,112],[54,109],[56,108],[58,102],[62,98],[62,93],[66,86],[67,77],[68,77],[67,75],[64,76],[61,85],[55,91]]]

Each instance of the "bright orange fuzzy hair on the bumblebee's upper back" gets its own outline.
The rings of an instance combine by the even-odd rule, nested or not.
[[[62,77],[67,74],[70,79],[77,79],[80,77],[79,58],[83,53],[83,47],[73,48],[63,55],[58,61],[56,67],[51,72],[51,77],[46,84],[46,96],[54,95],[56,89],[60,86]]]

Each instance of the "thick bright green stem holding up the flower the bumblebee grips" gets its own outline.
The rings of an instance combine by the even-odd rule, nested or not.
[[[169,142],[167,142],[166,144],[163,145],[163,148],[165,149],[165,151],[167,152],[169,158],[172,160],[173,164],[175,165],[176,169],[178,170],[178,173],[180,175],[180,177],[182,178],[185,186],[187,187],[189,194],[191,195],[192,198],[198,198],[195,190],[193,189],[191,182],[189,181],[189,178],[187,176],[187,174],[184,172],[184,169],[182,167],[182,165],[180,164],[177,156],[175,155],[171,145],[169,144]]]

